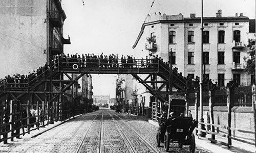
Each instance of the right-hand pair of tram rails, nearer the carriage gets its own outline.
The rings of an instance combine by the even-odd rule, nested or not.
[[[111,115],[111,113],[109,113],[109,114]],[[126,123],[121,117],[119,117],[118,115],[116,115],[116,114],[114,114],[114,113],[112,113],[112,114],[115,115],[116,117],[118,117],[126,127],[128,127],[132,132],[134,132],[134,133],[139,137],[139,139],[147,146],[147,148],[149,148],[152,152],[159,152],[159,151],[154,147],[154,145],[152,145],[149,141],[147,141],[147,140],[146,140],[140,133],[138,133],[131,125],[127,124],[127,123]],[[111,116],[112,116],[113,120],[115,120],[114,117],[113,117],[113,115],[111,115]],[[118,122],[117,122],[117,121],[115,121],[115,122],[116,122],[117,128],[119,129],[120,134],[123,135],[123,137],[124,137],[124,139],[125,139],[125,142],[127,143],[127,146],[130,147],[131,152],[138,152],[138,151],[136,151],[136,148],[135,148],[135,147],[133,146],[133,144],[131,143],[131,140],[126,136],[126,134],[124,134],[124,132],[123,132],[123,130],[121,129],[121,127],[120,127],[120,125],[118,124]]]

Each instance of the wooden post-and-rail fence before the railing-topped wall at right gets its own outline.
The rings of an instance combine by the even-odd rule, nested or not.
[[[208,94],[206,95],[206,93]],[[203,124],[205,126],[205,128],[197,128],[198,131],[203,133],[200,136],[204,137],[204,134],[210,134],[211,138],[208,138],[208,140],[224,144],[228,146],[228,148],[232,145],[232,140],[256,145],[255,127],[253,128],[254,130],[231,127],[231,109],[233,107],[249,108],[250,110],[253,110],[255,114],[255,108],[251,107],[252,104],[255,103],[255,85],[237,87],[230,82],[226,89],[212,89],[206,93],[203,94],[203,105],[209,106],[209,114],[206,116],[206,122],[199,122],[199,124]],[[195,100],[196,103],[199,98],[198,96],[195,96],[195,93],[191,93],[188,97],[193,97],[193,94],[193,100]],[[191,100],[189,100],[189,102],[191,103]],[[226,124],[215,123],[214,113],[217,112],[214,112],[213,108],[216,106],[222,106],[222,108],[225,108],[223,111],[227,113],[222,113],[222,115],[225,115],[227,118]],[[197,109],[195,107],[195,111],[196,110]],[[255,122],[255,115],[253,117],[253,121]],[[241,122],[243,121],[241,120]],[[226,138],[227,141],[223,141],[223,137]],[[219,140],[216,140],[218,138]]]

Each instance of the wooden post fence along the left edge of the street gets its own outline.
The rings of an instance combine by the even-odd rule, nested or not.
[[[13,141],[14,138],[29,134],[32,130],[39,130],[49,123],[84,112],[82,107],[67,109],[61,105],[57,101],[52,104],[49,101],[31,104],[28,100],[26,104],[22,104],[17,100],[6,100],[0,105],[0,142],[6,144],[8,139]]]

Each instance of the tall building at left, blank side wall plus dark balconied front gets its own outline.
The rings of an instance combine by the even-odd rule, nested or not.
[[[0,78],[26,74],[63,53],[61,0],[0,0]]]

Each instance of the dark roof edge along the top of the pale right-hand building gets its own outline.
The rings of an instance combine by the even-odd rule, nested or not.
[[[234,17],[234,16],[203,17],[203,22],[236,22],[236,21],[249,22],[249,18],[247,16],[243,16],[243,15],[240,15],[238,17]],[[201,22],[201,17],[193,17],[193,18],[185,17],[184,19],[160,19],[160,20],[145,22],[142,24],[140,33],[139,33],[132,48],[135,48],[137,46],[146,26],[154,25],[154,24],[158,24],[158,23],[175,23],[175,22]]]

